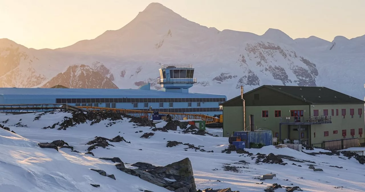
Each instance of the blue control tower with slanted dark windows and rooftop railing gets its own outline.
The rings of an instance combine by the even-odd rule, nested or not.
[[[196,83],[194,68],[191,64],[161,65],[157,81],[166,92],[189,93],[189,88]]]

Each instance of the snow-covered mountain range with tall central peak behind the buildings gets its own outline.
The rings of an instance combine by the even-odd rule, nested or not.
[[[149,82],[160,89],[156,81],[161,64],[189,63],[196,68],[198,79],[191,92],[225,94],[228,99],[239,94],[241,85],[249,91],[262,84],[326,86],[361,99],[364,95],[359,89],[365,83],[365,35],[336,37],[329,42],[314,36],[292,39],[277,29],[263,35],[219,31],[189,21],[159,3],[149,4],[119,30],[65,48],[34,50],[11,44],[38,59],[19,67],[33,71],[21,73],[26,79],[21,81],[16,76],[1,76],[17,65],[0,60],[0,65],[7,66],[0,73],[7,87],[42,86],[72,65],[90,64],[119,88],[135,89]],[[9,54],[7,45],[0,44],[0,56]],[[104,67],[95,66],[98,63]]]

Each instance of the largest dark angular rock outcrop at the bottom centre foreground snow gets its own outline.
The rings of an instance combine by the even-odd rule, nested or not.
[[[189,158],[164,167],[148,166],[145,168],[151,169],[128,169],[122,166],[117,166],[117,168],[170,191],[196,192],[193,169]]]

